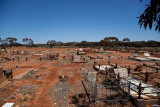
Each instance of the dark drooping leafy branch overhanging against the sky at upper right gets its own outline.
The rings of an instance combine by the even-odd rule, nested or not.
[[[141,0],[142,1],[142,0]],[[141,14],[138,24],[140,28],[144,26],[145,30],[149,25],[149,29],[152,29],[152,25],[155,26],[155,31],[160,32],[160,0],[151,0],[150,4],[146,5],[147,8]]]

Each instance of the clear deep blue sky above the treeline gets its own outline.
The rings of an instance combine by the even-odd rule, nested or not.
[[[150,0],[146,0],[150,1]],[[0,0],[0,37],[35,43],[100,41],[114,36],[131,41],[160,40],[160,33],[140,29],[140,0]]]

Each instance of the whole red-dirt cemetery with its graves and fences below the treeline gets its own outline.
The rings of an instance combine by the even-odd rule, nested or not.
[[[144,88],[140,100],[147,102],[159,98],[155,94],[159,92],[157,83],[160,78],[155,67],[158,66],[156,64],[158,62],[151,65],[152,67],[143,66],[141,71],[139,71],[140,68],[135,71],[135,68],[138,65],[144,65],[144,62],[128,60],[128,56],[131,56],[129,52],[120,53],[110,50],[108,52],[105,50],[107,48],[82,48],[87,55],[77,55],[76,49],[78,48],[13,47],[10,52],[14,50],[27,51],[27,54],[12,55],[10,52],[4,52],[3,56],[10,60],[2,62],[1,67],[12,69],[13,79],[8,85],[0,88],[0,106],[6,102],[13,102],[16,106],[32,106],[34,104],[35,106],[49,105],[52,107],[98,107],[101,105],[132,107],[134,105],[130,98],[139,101],[137,87],[140,82]],[[58,59],[55,60],[56,53],[59,53],[59,56],[57,55]],[[48,59],[47,55],[49,54],[54,54],[53,60]],[[12,56],[14,56],[14,61]],[[19,61],[17,57],[19,57]],[[147,64],[149,63],[147,61]],[[130,74],[128,74],[128,66],[130,66]],[[147,70],[149,78],[146,83],[145,73]],[[90,79],[86,79],[84,71],[89,71],[87,78]],[[150,88],[147,89],[147,87]]]

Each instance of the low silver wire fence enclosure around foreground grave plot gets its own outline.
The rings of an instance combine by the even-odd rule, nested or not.
[[[128,100],[129,92],[126,93],[124,90],[130,90],[129,84],[119,83],[118,81],[113,82],[95,82],[92,81],[87,72],[85,75],[85,86],[89,93],[91,101],[110,101],[116,102],[119,100]]]

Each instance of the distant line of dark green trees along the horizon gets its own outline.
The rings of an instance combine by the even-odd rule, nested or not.
[[[4,40],[0,38],[0,46],[2,48],[12,47],[12,46],[28,46],[28,47],[160,47],[160,42],[158,41],[133,41],[131,42],[129,38],[124,38],[119,41],[116,37],[106,37],[99,42],[67,42],[63,43],[61,41],[49,40],[46,44],[34,44],[34,41],[30,38],[24,38],[22,40],[24,44],[17,42],[16,38],[8,37]]]

